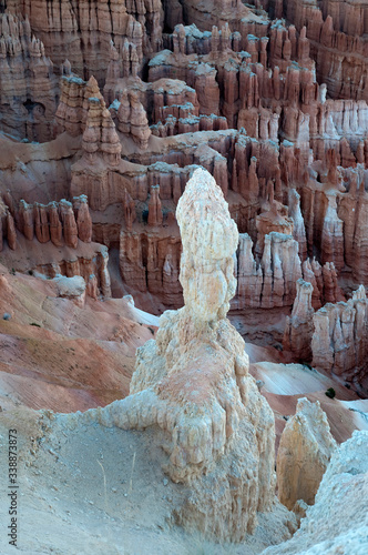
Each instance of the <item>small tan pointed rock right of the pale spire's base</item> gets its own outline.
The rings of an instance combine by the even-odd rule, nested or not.
[[[299,398],[284,428],[277,453],[278,498],[288,509],[298,500],[311,505],[336,442],[319,402]]]

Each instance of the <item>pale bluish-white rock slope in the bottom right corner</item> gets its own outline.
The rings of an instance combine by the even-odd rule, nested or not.
[[[365,555],[368,549],[368,432],[333,453],[315,504],[307,509],[292,539],[268,547],[264,555]]]

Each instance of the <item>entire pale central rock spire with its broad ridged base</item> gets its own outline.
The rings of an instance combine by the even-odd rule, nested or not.
[[[139,350],[130,396],[84,417],[163,430],[166,472],[192,484],[180,522],[236,542],[254,531],[257,511],[272,507],[274,417],[248,374],[244,342],[226,320],[238,233],[205,170],[186,184],[177,221],[185,306],[165,312],[156,340]]]

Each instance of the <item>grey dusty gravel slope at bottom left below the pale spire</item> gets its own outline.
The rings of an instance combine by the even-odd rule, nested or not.
[[[163,452],[152,432],[74,427],[8,401],[0,414],[0,443],[17,426],[19,542],[7,546],[7,452],[1,450],[1,555],[205,555],[260,553],[283,539],[287,512],[259,515],[256,534],[242,545],[218,545],[175,525],[185,487],[161,470]],[[51,430],[50,430],[51,427]],[[32,440],[33,438],[33,440]]]

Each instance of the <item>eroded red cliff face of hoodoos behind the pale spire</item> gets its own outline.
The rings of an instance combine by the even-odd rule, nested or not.
[[[368,286],[366,11],[339,6],[3,0],[1,129],[49,141],[1,137],[3,244],[33,225],[57,246],[50,202],[86,195],[82,235],[112,250],[113,294],[180,307],[175,210],[202,167],[241,233],[232,311],[278,311],[277,337],[260,316],[259,342],[284,334],[311,362],[311,321],[305,335],[290,314],[297,281],[315,311]]]

